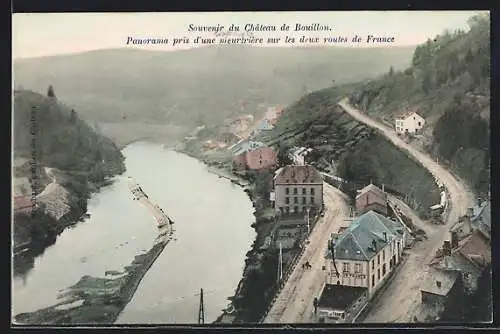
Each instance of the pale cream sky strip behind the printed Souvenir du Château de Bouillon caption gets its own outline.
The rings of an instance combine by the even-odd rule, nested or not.
[[[257,32],[255,37],[280,37],[277,46],[306,46],[297,44],[301,36],[319,37],[323,44],[325,37],[342,36],[348,39],[343,46],[367,47],[387,45],[416,45],[434,38],[445,29],[468,29],[467,20],[484,11],[357,11],[357,12],[204,12],[204,13],[16,13],[12,15],[13,59],[31,58],[58,54],[110,48],[142,48],[158,51],[185,49],[197,36],[214,37],[213,32],[189,32],[188,26],[230,24],[274,25],[277,31]],[[293,31],[295,25],[326,25],[328,31]],[[280,31],[283,24],[290,25],[290,31]],[[353,43],[358,35],[361,42]],[[394,37],[393,42],[367,43],[368,35]],[[285,44],[285,36],[294,37],[296,43]],[[128,38],[168,39],[168,44],[128,44]],[[189,43],[172,45],[173,38],[189,38]],[[237,37],[233,33],[233,37]],[[378,45],[377,45],[378,44]],[[339,45],[327,43],[327,45]]]

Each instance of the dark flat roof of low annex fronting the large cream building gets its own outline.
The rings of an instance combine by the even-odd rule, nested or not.
[[[359,286],[327,284],[321,292],[319,307],[345,310],[368,289]]]

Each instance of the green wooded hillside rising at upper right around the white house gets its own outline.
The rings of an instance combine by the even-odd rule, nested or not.
[[[316,138],[315,147],[327,153],[329,159],[338,156],[329,151],[343,150],[344,146],[328,148],[330,142],[323,140],[348,134],[329,125],[329,113],[341,97],[350,97],[352,103],[390,127],[394,127],[395,115],[415,110],[426,118],[427,125],[422,135],[409,140],[439,157],[440,163],[449,164],[479,195],[486,195],[490,186],[489,17],[472,17],[469,24],[467,32],[444,32],[419,45],[411,56],[411,65],[404,71],[391,69],[374,80],[326,88],[305,96],[285,110],[285,116],[268,134],[268,140]],[[338,122],[334,122],[336,127],[342,125]],[[300,142],[304,143],[303,139]],[[359,162],[361,152],[373,151],[376,146],[360,146],[358,153],[353,148],[337,160],[337,167],[358,180],[373,177],[375,171],[363,170]],[[376,152],[372,153],[374,158],[382,159],[388,152],[380,151],[378,157]],[[390,161],[387,158],[385,163]],[[375,165],[378,163],[372,164]],[[358,175],[353,175],[356,170]]]

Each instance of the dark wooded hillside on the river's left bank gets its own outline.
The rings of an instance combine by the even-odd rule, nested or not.
[[[28,178],[36,194],[51,182],[69,193],[68,198],[49,196],[49,201],[58,203],[40,202],[40,208],[32,214],[14,215],[15,246],[28,243],[43,247],[44,240],[47,245],[52,243],[58,233],[85,213],[92,191],[125,171],[124,157],[109,138],[60,102],[53,87],[48,96],[14,91],[13,117],[14,157],[25,161],[14,168],[14,176]],[[52,175],[46,174],[45,167],[52,169]],[[45,210],[47,204],[56,208],[67,204],[68,213],[54,219]]]

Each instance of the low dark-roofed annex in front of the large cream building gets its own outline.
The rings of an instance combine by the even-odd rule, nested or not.
[[[367,288],[325,284],[315,318],[320,323],[350,323],[367,301]]]

